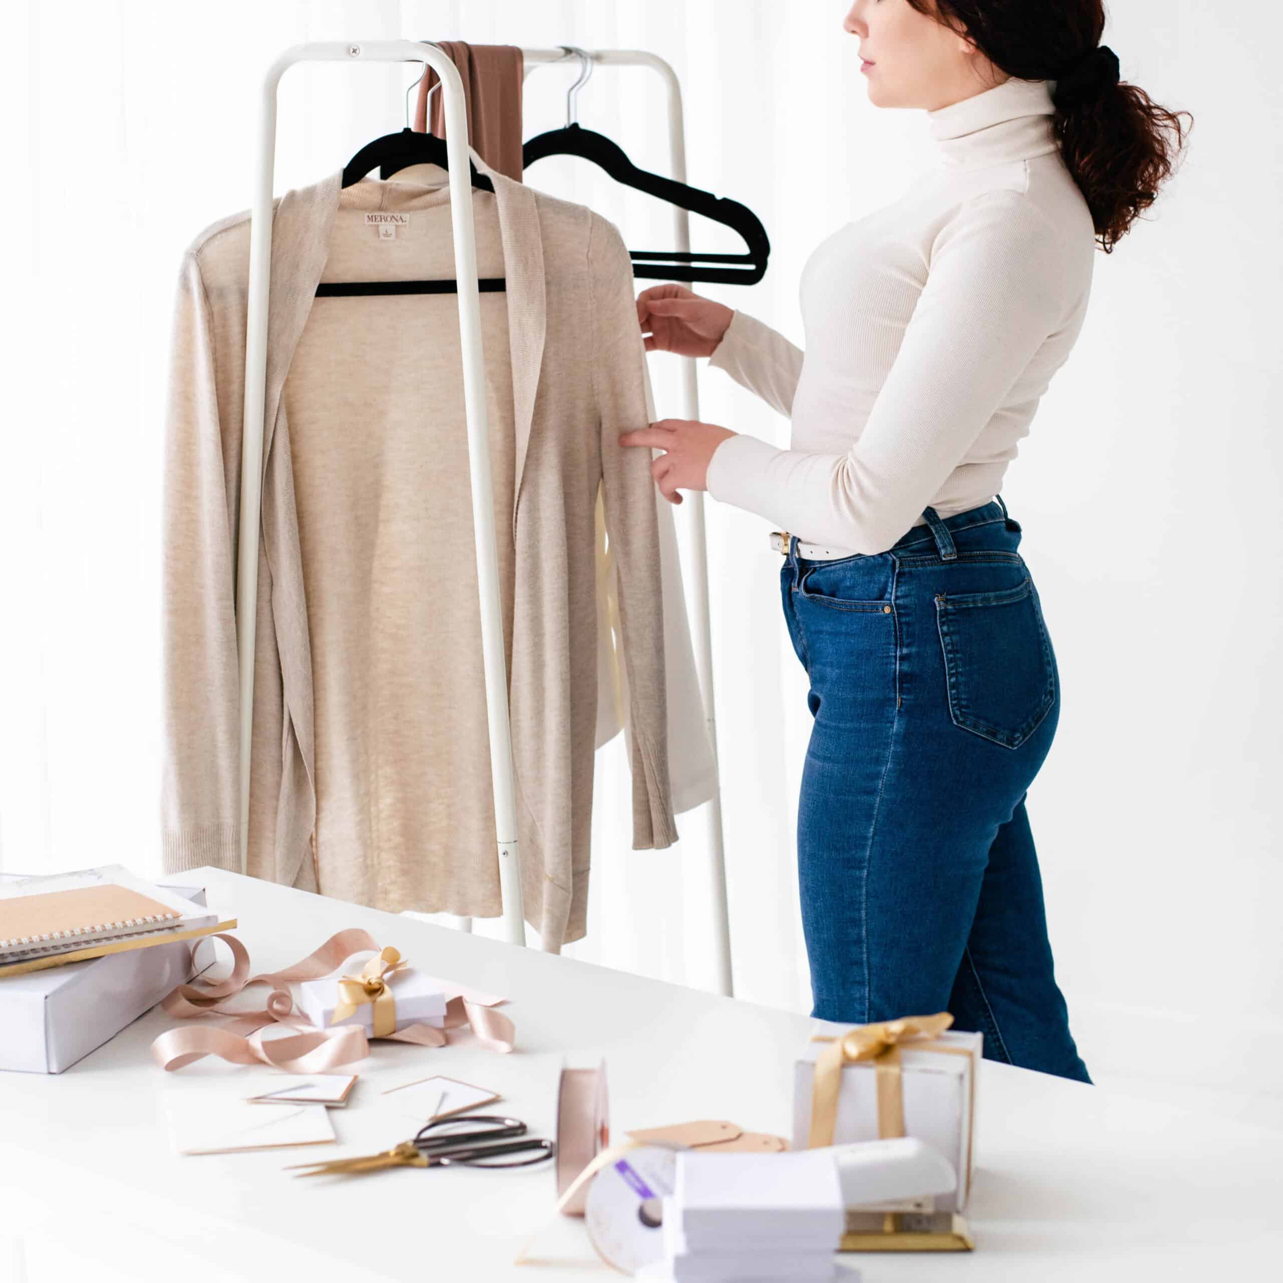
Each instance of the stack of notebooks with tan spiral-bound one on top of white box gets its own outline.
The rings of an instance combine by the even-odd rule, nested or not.
[[[207,935],[218,915],[122,865],[0,881],[0,975]]]

